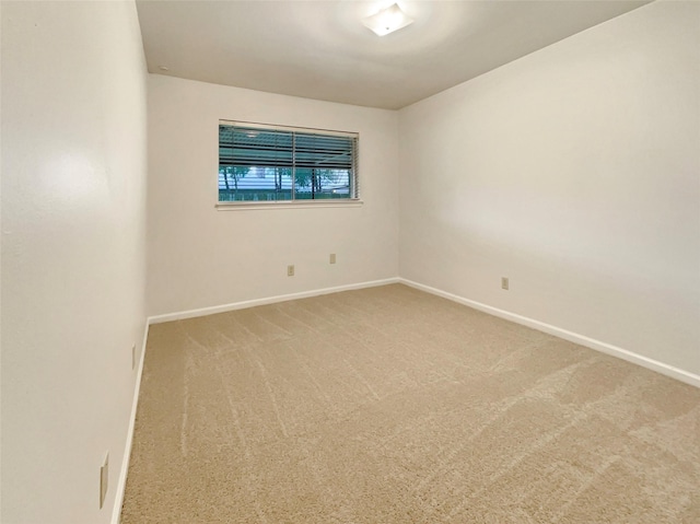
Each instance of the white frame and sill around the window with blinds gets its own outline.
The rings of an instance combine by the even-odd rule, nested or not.
[[[292,175],[291,175],[291,196],[290,200],[220,200],[220,190],[221,186],[219,185],[219,172],[221,170],[221,135],[220,129],[221,126],[230,126],[230,127],[238,127],[244,129],[253,129],[260,131],[281,131],[289,133],[299,133],[299,135],[318,135],[322,137],[343,137],[352,140],[352,152],[351,152],[351,165],[352,168],[349,173],[349,196],[347,198],[317,198],[317,199],[307,199],[307,198],[294,198],[295,196],[295,170],[298,168],[295,165],[292,165]],[[357,131],[340,131],[340,130],[331,130],[331,129],[318,129],[318,128],[307,128],[307,127],[299,127],[299,126],[283,126],[283,125],[271,125],[271,124],[262,124],[262,123],[253,123],[245,120],[226,120],[219,119],[219,132],[218,132],[218,144],[219,144],[219,168],[218,168],[218,177],[217,177],[217,205],[215,208],[221,210],[235,210],[235,209],[291,209],[291,208],[324,208],[324,207],[358,207],[361,206],[362,199],[360,196],[360,181],[359,181],[359,163],[360,163],[360,133]],[[293,148],[293,147],[292,147]],[[292,150],[292,156],[294,156],[294,150]],[[301,167],[303,168],[303,167]]]

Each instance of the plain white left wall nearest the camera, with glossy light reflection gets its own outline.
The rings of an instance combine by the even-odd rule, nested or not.
[[[3,523],[113,515],[145,318],[145,74],[133,2],[2,3]]]

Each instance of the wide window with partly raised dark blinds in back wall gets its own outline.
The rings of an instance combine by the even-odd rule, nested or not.
[[[219,123],[219,202],[358,200],[358,135]]]

